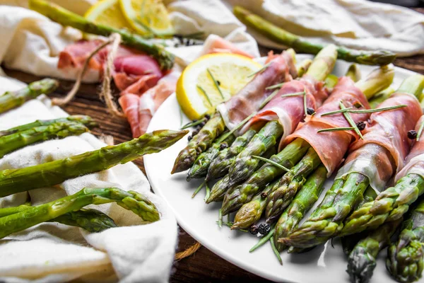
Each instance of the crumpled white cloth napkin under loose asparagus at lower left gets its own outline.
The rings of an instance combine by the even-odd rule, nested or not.
[[[0,76],[0,93],[25,86]],[[0,115],[0,130],[37,119],[65,117],[49,98],[30,100]],[[0,170],[33,166],[105,146],[92,134],[66,137],[27,146],[0,158]],[[161,219],[141,225],[136,214],[117,204],[95,206],[114,219],[118,228],[101,233],[57,223],[39,224],[0,240],[0,282],[167,282],[177,243],[177,223],[163,200],[134,163],[81,176],[54,187],[31,190],[33,205],[56,200],[83,187],[120,187],[135,190],[151,200]],[[0,198],[0,207],[23,204],[27,192]]]

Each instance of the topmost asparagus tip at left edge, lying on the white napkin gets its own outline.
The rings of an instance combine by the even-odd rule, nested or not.
[[[54,79],[42,79],[28,84],[19,91],[8,91],[0,96],[0,113],[23,105],[28,100],[37,98],[37,96],[52,93],[59,86],[59,82]]]

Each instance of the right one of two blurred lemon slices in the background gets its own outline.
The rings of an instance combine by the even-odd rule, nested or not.
[[[142,35],[174,34],[165,5],[161,0],[119,0],[126,21]]]

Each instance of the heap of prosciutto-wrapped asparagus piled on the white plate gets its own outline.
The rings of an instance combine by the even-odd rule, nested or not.
[[[412,282],[423,271],[424,200],[421,202],[419,196],[424,192],[424,175],[406,173],[394,187],[384,188],[406,165],[406,154],[414,142],[418,146],[415,139],[423,131],[422,122],[418,122],[423,114],[418,97],[423,92],[424,76],[411,76],[394,91],[389,87],[394,78],[391,67],[382,66],[360,79],[353,64],[346,77],[331,83],[337,54],[337,47],[326,47],[312,62],[298,64],[297,79],[267,86],[277,91],[271,96],[265,92],[258,112],[232,129],[217,111],[189,137],[172,173],[189,169],[187,181],[204,178],[194,195],[206,187],[207,204],[223,202],[218,225],[223,224],[223,215],[235,212],[234,220],[224,223],[226,226],[259,233],[262,238],[251,251],[269,241],[281,261],[280,253],[285,249],[302,253],[343,236],[347,271],[353,282],[368,282],[377,254],[394,240],[392,236],[401,227],[399,240],[389,248],[387,270],[399,282]],[[360,60],[371,59],[365,54],[360,56]],[[259,76],[252,81],[259,80]],[[306,88],[300,93],[284,93],[283,89],[311,79],[325,81],[329,97],[319,107],[300,107],[303,119],[290,132],[285,133],[287,123],[281,122],[278,115],[248,122],[257,121],[261,108],[278,96],[301,96],[305,105],[309,103]],[[353,99],[352,93],[358,99]],[[286,110],[284,103],[272,109],[275,107]],[[326,142],[321,148],[320,139]],[[339,168],[346,156],[345,165]],[[374,180],[371,173],[367,174],[369,164],[377,164],[376,170],[385,170],[386,175],[377,171],[380,175]],[[334,185],[304,219],[323,193],[324,181],[336,173],[336,168],[339,170]],[[210,187],[213,180],[217,181]],[[381,190],[379,195],[375,189]]]

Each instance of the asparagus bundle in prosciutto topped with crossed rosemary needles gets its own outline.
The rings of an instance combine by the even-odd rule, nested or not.
[[[371,98],[375,93],[382,91],[382,89],[387,88],[391,84],[393,79],[393,70],[388,68],[377,69],[372,72],[367,79],[359,81],[356,83],[356,86],[353,85],[353,82],[348,79],[344,79],[339,81],[338,88],[336,88],[331,96],[326,100],[324,105],[317,110],[317,113],[312,117],[312,120],[318,119],[318,117],[329,110],[338,109],[338,105],[340,105],[340,101],[343,103],[350,103],[351,105],[346,105],[346,107],[355,107],[360,101],[360,107],[367,107],[367,98]],[[349,102],[350,101],[350,102]],[[340,110],[337,110],[340,113]],[[344,116],[338,114],[338,117],[335,120],[331,120],[329,122],[329,127],[340,127],[337,125],[341,125],[343,131],[350,130],[351,125],[346,122]],[[325,116],[324,116],[325,117]],[[319,118],[323,120],[324,117]],[[360,122],[366,120],[367,114],[355,114],[353,115],[354,119],[353,125],[356,122]],[[329,149],[331,144],[334,144],[332,147],[331,154],[326,155],[326,163],[324,165],[328,165],[327,171],[331,173],[334,171],[334,168],[338,165],[341,158],[345,154],[348,149],[349,144],[351,144],[352,137],[354,137],[354,133],[346,133],[346,132],[323,132],[317,133],[317,129],[325,128],[325,124],[323,122],[305,123],[300,129],[298,129],[295,134],[292,135],[292,140],[289,142],[285,148],[280,151],[275,156],[271,157],[271,160],[274,163],[278,163],[285,168],[292,168],[282,180],[281,183],[278,183],[278,186],[275,187],[275,190],[271,190],[271,194],[268,196],[268,206],[271,207],[269,209],[270,212],[273,212],[270,216],[276,217],[280,216],[282,212],[281,207],[286,207],[289,202],[281,202],[282,200],[279,197],[279,193],[276,196],[277,202],[271,202],[273,199],[273,192],[275,192],[279,187],[284,184],[290,184],[293,182],[298,183],[299,185],[290,185],[290,190],[292,187],[294,190],[298,190],[298,188],[304,183],[304,180],[307,175],[309,175],[312,171],[314,171],[317,166],[321,163],[321,156],[314,151],[314,148],[310,145],[315,143],[315,141],[323,141],[322,144],[319,144],[319,147],[322,149]],[[316,125],[317,127],[315,127]],[[347,125],[347,126],[346,126]],[[303,131],[303,132],[302,132]],[[326,139],[323,139],[326,137]],[[311,140],[314,139],[314,140]],[[290,136],[285,141],[290,141]],[[328,150],[326,150],[328,151]],[[335,158],[338,160],[335,161]],[[252,197],[263,190],[264,186],[271,182],[278,176],[281,176],[284,170],[278,166],[275,166],[271,163],[266,164],[259,168],[254,174],[252,174],[242,185],[238,185],[236,187],[232,187],[228,190],[225,195],[225,199],[223,202],[223,214],[228,214],[230,212],[235,212],[239,209],[242,204],[249,202],[252,200]],[[273,191],[273,192],[272,192]],[[288,195],[290,200],[293,199],[295,195],[291,193]],[[276,205],[275,209],[273,206]]]

